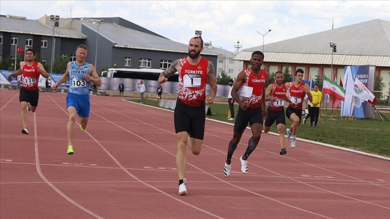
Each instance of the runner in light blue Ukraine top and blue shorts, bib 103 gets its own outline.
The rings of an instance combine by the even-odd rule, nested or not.
[[[95,66],[86,63],[87,48],[84,44],[77,47],[76,60],[69,62],[65,74],[57,81],[53,89],[56,90],[61,83],[69,80],[69,92],[66,97],[66,107],[68,108],[69,120],[68,131],[68,154],[73,154],[73,136],[75,133],[76,117],[80,117],[80,129],[84,131],[88,124],[90,102],[89,86],[101,86],[102,81],[95,70]]]

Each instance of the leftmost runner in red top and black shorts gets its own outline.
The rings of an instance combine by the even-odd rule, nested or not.
[[[38,106],[39,90],[38,80],[42,75],[49,77],[41,63],[35,61],[36,52],[33,49],[26,50],[26,61],[20,62],[20,69],[8,75],[8,81],[12,81],[13,76],[22,74],[22,88],[20,88],[19,101],[21,108],[20,117],[22,117],[22,133],[29,134],[27,129],[27,109],[35,112]]]

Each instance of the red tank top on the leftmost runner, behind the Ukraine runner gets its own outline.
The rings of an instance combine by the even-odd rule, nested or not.
[[[38,62],[29,66],[26,62],[22,63],[22,87],[25,90],[38,90],[39,72]]]

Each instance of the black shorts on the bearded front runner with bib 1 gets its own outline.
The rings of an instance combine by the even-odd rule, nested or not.
[[[173,114],[176,133],[186,131],[189,137],[203,140],[205,136],[205,105],[188,106],[178,100]]]

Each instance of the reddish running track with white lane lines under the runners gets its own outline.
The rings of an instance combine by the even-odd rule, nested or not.
[[[240,172],[250,131],[223,166],[233,126],[206,121],[199,156],[187,154],[187,189],[178,195],[173,113],[91,96],[86,131],[66,154],[65,94],[40,93],[21,133],[19,93],[0,90],[0,218],[387,218],[390,163],[297,141],[279,155],[265,134]],[[288,142],[286,142],[288,144]]]

